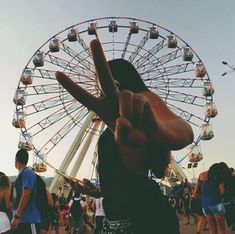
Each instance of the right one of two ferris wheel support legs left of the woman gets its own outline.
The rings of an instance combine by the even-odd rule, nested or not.
[[[104,129],[104,127],[105,127],[105,124],[103,122],[101,124],[101,127],[100,127],[100,122],[97,122],[97,123],[94,124],[93,129],[100,128],[100,131],[102,131]],[[89,147],[92,143],[92,140],[94,139],[94,136],[95,136],[94,134],[90,133],[89,136],[87,137],[86,142],[85,142],[85,144],[84,144],[84,146],[81,150],[81,153],[79,154],[79,156],[78,156],[78,158],[77,158],[76,162],[74,163],[74,166],[71,170],[71,174],[70,174],[71,176],[74,177],[74,176],[77,175],[77,173],[78,173],[78,171],[81,167],[81,164],[84,160],[84,157],[85,157],[85,155],[86,155],[86,153],[87,153],[87,151],[88,151],[88,149],[89,149]]]

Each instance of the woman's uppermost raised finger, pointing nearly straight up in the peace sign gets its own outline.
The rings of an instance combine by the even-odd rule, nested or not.
[[[96,73],[105,96],[116,97],[116,84],[99,40],[95,39],[91,41],[90,48],[93,55]]]

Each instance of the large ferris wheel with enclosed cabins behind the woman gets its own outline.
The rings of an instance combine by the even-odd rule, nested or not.
[[[200,141],[214,136],[210,120],[217,115],[213,84],[202,60],[182,38],[156,23],[103,17],[53,35],[22,71],[13,99],[12,124],[21,132],[19,148],[34,152],[35,169],[43,172],[49,165],[58,173],[67,173],[70,166],[70,175],[76,176],[91,144],[105,128],[55,78],[56,71],[63,71],[92,95],[100,96],[89,49],[94,38],[99,38],[107,60],[131,62],[146,86],[191,124],[195,140],[189,161],[200,161]],[[96,153],[94,165],[95,160]]]

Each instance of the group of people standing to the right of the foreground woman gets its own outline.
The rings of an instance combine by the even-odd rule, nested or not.
[[[190,216],[197,233],[226,233],[226,226],[235,230],[235,174],[224,162],[214,163],[208,171],[199,174],[197,184],[182,183],[169,195],[169,201],[184,224]]]

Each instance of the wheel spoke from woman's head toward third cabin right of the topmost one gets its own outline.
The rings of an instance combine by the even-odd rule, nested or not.
[[[164,42],[165,39],[161,40],[148,52],[146,52],[143,56],[141,56],[141,58],[134,61],[133,65],[136,67],[136,69],[139,70],[143,66],[143,64],[146,64],[146,62],[148,62],[151,59],[151,57],[155,56],[160,50],[162,50],[164,48]]]

